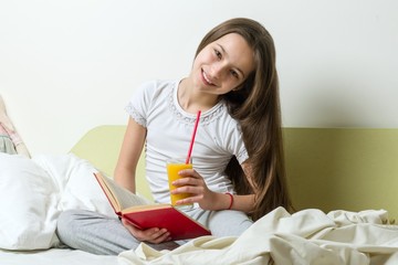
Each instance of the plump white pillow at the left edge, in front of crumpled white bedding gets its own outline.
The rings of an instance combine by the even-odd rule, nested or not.
[[[49,248],[55,236],[57,192],[52,178],[24,156],[0,153],[0,248]]]

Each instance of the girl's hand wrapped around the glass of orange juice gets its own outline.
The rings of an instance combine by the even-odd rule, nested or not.
[[[171,193],[190,193],[191,197],[177,201],[177,205],[197,202],[203,210],[220,210],[214,203],[217,193],[209,190],[203,178],[195,169],[185,169],[179,171],[178,174],[184,178],[172,182],[178,188],[172,190]]]

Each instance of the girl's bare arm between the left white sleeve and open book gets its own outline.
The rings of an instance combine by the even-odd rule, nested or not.
[[[129,118],[115,168],[115,181],[129,191],[136,191],[135,174],[143,151],[146,128]]]

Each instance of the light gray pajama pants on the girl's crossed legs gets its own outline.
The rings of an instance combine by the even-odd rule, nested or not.
[[[252,221],[239,211],[205,211],[199,208],[185,213],[210,229],[214,236],[238,236]],[[101,255],[117,255],[135,250],[139,245],[118,219],[85,210],[70,210],[61,213],[56,234],[65,245]],[[185,241],[148,244],[156,250],[172,250]]]

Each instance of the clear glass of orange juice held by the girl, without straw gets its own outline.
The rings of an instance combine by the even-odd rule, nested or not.
[[[176,202],[178,200],[182,200],[185,198],[190,197],[190,193],[171,194],[171,191],[177,188],[176,186],[172,184],[172,181],[184,178],[178,174],[178,172],[182,169],[192,169],[192,158],[189,159],[188,163],[186,163],[186,158],[171,158],[167,160],[167,176],[170,188],[170,200],[171,200],[171,205],[174,206],[176,205]],[[191,203],[180,204],[180,205],[192,206]]]

